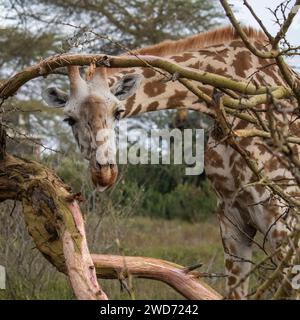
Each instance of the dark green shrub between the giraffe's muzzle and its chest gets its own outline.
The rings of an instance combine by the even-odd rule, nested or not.
[[[183,166],[130,166],[126,184],[142,188],[140,214],[199,221],[212,215],[217,200],[203,176],[185,176]],[[129,181],[128,181],[129,180]]]

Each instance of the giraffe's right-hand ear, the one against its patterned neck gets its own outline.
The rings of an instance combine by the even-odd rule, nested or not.
[[[119,100],[126,100],[136,92],[141,80],[142,76],[139,74],[127,74],[117,81],[110,90]]]

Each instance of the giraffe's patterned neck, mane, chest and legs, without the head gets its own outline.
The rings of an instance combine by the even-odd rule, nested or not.
[[[266,45],[264,37],[252,29],[246,31],[249,37],[252,37],[255,46],[263,50]],[[202,38],[194,37],[186,42],[180,40],[177,46],[176,42],[166,42],[137,50],[136,53],[164,56],[182,66],[216,73],[237,81],[248,80],[257,87],[285,85],[273,61],[263,60],[251,54],[231,28],[219,29],[205,34]],[[215,117],[212,107],[199,103],[198,97],[178,81],[162,81],[162,75],[153,69],[107,71],[107,81],[111,88],[118,88],[124,75],[127,79],[137,75],[139,79],[136,92],[124,101],[122,118],[173,108],[193,109]],[[199,83],[197,85],[208,95],[212,94],[212,87]],[[112,92],[115,90],[111,89]],[[101,88],[99,92],[101,93]],[[264,107],[266,106],[259,106]],[[109,117],[107,111],[105,114]],[[300,122],[293,114],[287,116],[292,125],[288,128],[283,125],[283,130],[298,135]],[[278,117],[280,118],[280,115]],[[239,118],[231,117],[231,121],[234,130],[255,127]],[[271,193],[261,183],[257,183],[244,159],[222,138],[217,126],[210,130],[205,151],[205,171],[219,198],[218,217],[228,274],[227,292],[229,298],[240,299],[248,293],[248,281],[237,287],[236,285],[251,268],[253,239],[256,233],[263,234],[268,250],[272,251],[287,237],[289,231],[286,225],[287,214],[279,206],[280,200],[271,197]],[[270,152],[262,139],[240,138],[239,143],[259,160],[259,167],[264,168],[270,179],[287,181],[285,190],[295,196],[300,195],[292,183],[292,174],[280,162],[278,155]]]

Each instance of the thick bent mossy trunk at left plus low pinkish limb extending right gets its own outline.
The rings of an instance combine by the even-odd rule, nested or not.
[[[199,274],[167,261],[111,255],[91,257],[76,201],[78,196],[49,168],[2,151],[3,148],[0,149],[0,201],[21,201],[28,232],[37,249],[69,277],[78,299],[107,299],[97,282],[96,270],[99,278],[120,279],[122,272],[123,276],[130,273],[160,280],[188,299],[222,298],[198,279]]]

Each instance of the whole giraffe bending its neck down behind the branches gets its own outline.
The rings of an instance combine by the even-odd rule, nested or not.
[[[260,50],[266,50],[265,36],[244,27],[249,39]],[[217,28],[178,41],[137,49],[135,54],[168,58],[185,67],[213,72],[236,81],[256,85],[278,86],[285,81],[278,67],[270,59],[254,56],[230,27]],[[70,95],[50,87],[43,92],[44,100],[52,106],[63,107],[65,121],[72,131],[84,157],[89,160],[92,181],[100,191],[112,186],[117,179],[114,161],[114,141],[111,136],[101,142],[99,129],[113,129],[116,121],[145,112],[164,109],[190,109],[216,117],[212,106],[199,101],[178,81],[162,81],[159,72],[151,68],[110,69],[98,67],[91,79],[84,80],[77,66],[68,67]],[[206,94],[213,88],[197,83]],[[262,108],[263,106],[260,106]],[[300,123],[289,115],[289,130],[296,134]],[[233,129],[251,126],[249,122],[232,117]],[[270,179],[293,181],[291,173],[282,167],[277,156],[258,138],[240,138],[240,144],[263,166]],[[105,143],[104,143],[105,142]],[[99,147],[104,162],[97,163]],[[286,214],[278,199],[256,181],[244,159],[222,140],[218,126],[209,131],[205,150],[205,172],[219,198],[218,218],[224,247],[226,291],[230,299],[244,299],[248,294],[249,279],[241,281],[251,268],[253,239],[261,233],[272,250],[288,235]],[[297,196],[299,190],[285,187]],[[299,195],[298,195],[299,196]],[[276,222],[276,223],[275,223]],[[240,285],[237,284],[241,282]]]

